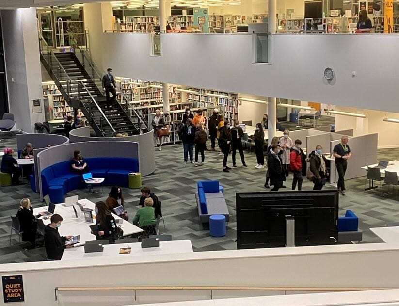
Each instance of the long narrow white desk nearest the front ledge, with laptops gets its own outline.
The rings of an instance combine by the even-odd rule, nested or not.
[[[130,254],[119,254],[119,249],[131,247]],[[65,249],[61,260],[82,259],[93,257],[122,258],[131,256],[147,256],[162,254],[192,253],[190,240],[160,241],[159,247],[142,249],[141,243],[106,244],[103,252],[84,253],[84,247]]]

